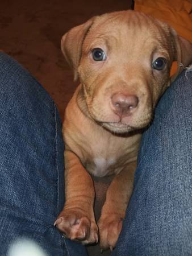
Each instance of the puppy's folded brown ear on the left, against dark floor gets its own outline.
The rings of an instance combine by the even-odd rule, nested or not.
[[[87,20],[84,24],[72,28],[61,39],[61,51],[70,67],[73,68],[74,81],[78,78],[77,68],[81,60],[82,44],[94,19],[95,17]]]

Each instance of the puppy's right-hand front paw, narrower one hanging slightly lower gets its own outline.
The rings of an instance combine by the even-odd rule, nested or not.
[[[101,216],[99,226],[100,246],[102,249],[112,251],[118,241],[119,234],[122,230],[123,218],[118,214],[111,214],[110,216]]]

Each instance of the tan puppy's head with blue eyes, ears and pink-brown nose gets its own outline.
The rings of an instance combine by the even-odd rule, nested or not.
[[[106,129],[125,133],[151,121],[173,61],[189,64],[188,44],[163,22],[120,11],[72,28],[61,49],[81,81],[82,110]]]

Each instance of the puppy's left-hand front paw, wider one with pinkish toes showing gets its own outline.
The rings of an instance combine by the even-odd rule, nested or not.
[[[62,210],[54,225],[70,240],[81,241],[83,244],[98,242],[95,221],[84,216],[81,210]]]

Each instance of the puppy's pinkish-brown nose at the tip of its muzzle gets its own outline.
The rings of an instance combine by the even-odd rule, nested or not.
[[[115,114],[118,114],[119,117],[122,115],[131,114],[138,103],[139,98],[135,95],[124,95],[122,93],[115,93],[111,97],[112,106],[114,107]]]

